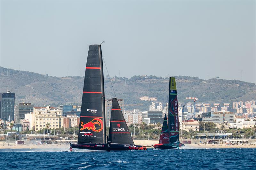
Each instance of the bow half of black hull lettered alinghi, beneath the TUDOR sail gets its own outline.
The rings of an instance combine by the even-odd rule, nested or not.
[[[146,148],[146,146],[142,146],[142,145],[110,143],[108,150],[109,151],[129,151],[129,150],[147,150],[147,148]]]

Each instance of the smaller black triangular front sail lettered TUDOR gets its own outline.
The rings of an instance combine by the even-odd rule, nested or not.
[[[112,99],[108,140],[110,143],[134,145],[124,115],[116,98]]]

